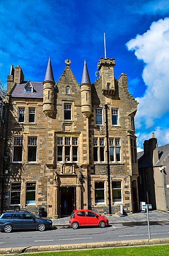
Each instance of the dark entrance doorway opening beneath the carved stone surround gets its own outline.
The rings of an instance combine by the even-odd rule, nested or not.
[[[60,188],[60,217],[69,216],[75,209],[75,187],[63,186]]]

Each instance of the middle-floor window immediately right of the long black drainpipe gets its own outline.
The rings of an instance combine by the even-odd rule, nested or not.
[[[115,141],[115,146],[114,146]],[[121,162],[121,139],[109,138],[110,162]]]

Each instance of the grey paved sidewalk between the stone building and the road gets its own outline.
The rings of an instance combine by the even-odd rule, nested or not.
[[[110,224],[115,223],[143,223],[147,222],[146,212],[138,212],[120,217],[118,215],[107,216]],[[149,211],[149,221],[151,222],[169,222],[169,214],[158,210]],[[53,219],[54,226],[69,225],[69,217]]]

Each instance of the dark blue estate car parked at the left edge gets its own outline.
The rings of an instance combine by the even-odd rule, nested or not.
[[[41,218],[28,211],[7,211],[0,216],[0,229],[10,233],[14,229],[45,231],[52,227],[52,220]]]

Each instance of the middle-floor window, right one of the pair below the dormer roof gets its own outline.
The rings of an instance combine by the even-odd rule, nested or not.
[[[28,162],[37,162],[37,137],[28,137]]]

